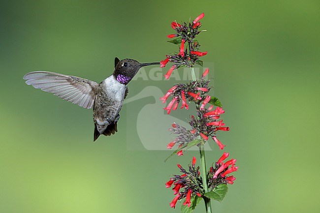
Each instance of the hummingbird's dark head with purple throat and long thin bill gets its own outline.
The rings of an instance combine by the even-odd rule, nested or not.
[[[127,85],[143,66],[160,64],[160,62],[139,63],[133,59],[119,60],[115,58],[113,75],[121,84]]]

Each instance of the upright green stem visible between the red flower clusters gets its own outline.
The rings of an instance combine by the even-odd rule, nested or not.
[[[190,69],[191,69],[192,80],[195,81],[196,77],[195,77],[194,68],[190,67]],[[204,189],[204,192],[206,193],[209,190],[208,190],[208,184],[207,184],[207,169],[206,169],[207,167],[206,167],[206,157],[205,157],[203,142],[201,142],[199,150],[200,150],[200,161],[201,161],[201,177],[203,182],[203,189]],[[203,200],[206,206],[206,212],[212,213],[211,200],[204,196],[203,196]]]

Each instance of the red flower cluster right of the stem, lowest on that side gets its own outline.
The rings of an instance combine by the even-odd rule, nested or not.
[[[233,182],[235,181],[235,177],[233,177],[233,175],[227,175],[238,170],[238,167],[234,166],[236,159],[232,158],[231,160],[223,162],[228,156],[229,153],[224,152],[219,160],[215,163],[215,167],[210,167],[208,172],[209,187],[214,188],[218,184],[222,183],[233,184]]]

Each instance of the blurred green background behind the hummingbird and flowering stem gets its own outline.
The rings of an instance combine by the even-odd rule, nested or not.
[[[231,128],[219,139],[239,166],[214,212],[320,212],[319,0],[1,1],[0,212],[180,212],[169,207],[164,183],[197,152],[164,163],[171,152],[130,150],[136,127],[126,118],[117,134],[93,143],[91,110],[22,77],[47,70],[100,82],[116,56],[162,60],[176,51],[166,42],[170,22],[201,12],[203,60],[214,63],[210,77]],[[137,80],[129,97],[153,83],[165,91],[174,82]],[[222,153],[212,148],[211,162]],[[203,203],[195,212],[204,212]]]

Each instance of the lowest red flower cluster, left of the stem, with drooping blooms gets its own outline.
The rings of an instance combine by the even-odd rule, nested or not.
[[[198,196],[201,197],[203,194],[201,185],[202,181],[200,179],[200,167],[195,167],[196,159],[192,157],[192,164],[189,165],[189,172],[187,172],[180,164],[177,164],[178,168],[183,173],[182,175],[174,175],[168,182],[165,183],[166,188],[170,188],[172,185],[173,194],[176,195],[171,203],[169,203],[171,208],[175,208],[178,200],[186,198],[182,205],[191,205],[191,197]],[[195,184],[196,183],[196,184]]]

